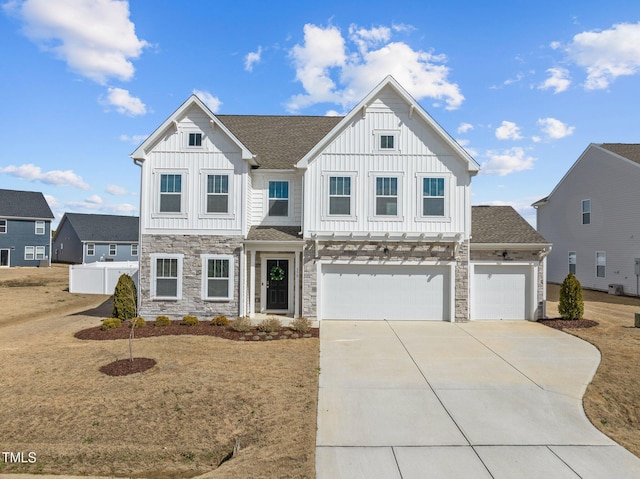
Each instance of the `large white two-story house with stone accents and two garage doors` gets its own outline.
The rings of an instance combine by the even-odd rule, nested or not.
[[[549,245],[508,208],[472,228],[478,164],[391,77],[345,117],[214,115],[191,96],[131,156],[142,315],[543,313]]]

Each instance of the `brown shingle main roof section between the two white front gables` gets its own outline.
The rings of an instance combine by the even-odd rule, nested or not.
[[[291,169],[342,117],[216,115],[257,156],[260,168]]]

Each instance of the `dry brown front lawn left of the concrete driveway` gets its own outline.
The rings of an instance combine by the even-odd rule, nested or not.
[[[0,473],[315,476],[317,339],[140,339],[135,356],[158,364],[110,377],[99,368],[128,357],[128,341],[78,340],[73,333],[98,325],[104,312],[67,314],[105,297],[69,295],[60,267],[43,271],[0,272],[0,283],[20,273],[46,279],[46,286],[0,286],[0,450],[37,454],[36,464],[0,462]],[[48,301],[32,301],[38,288],[47,288]],[[43,304],[50,309],[34,319]],[[217,468],[237,441],[240,451]]]

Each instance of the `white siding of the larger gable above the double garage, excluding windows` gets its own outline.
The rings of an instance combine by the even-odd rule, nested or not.
[[[380,150],[379,135],[394,134],[394,150]],[[469,234],[471,175],[467,164],[393,90],[386,88],[354,116],[310,161],[305,173],[305,234],[311,232],[401,232]],[[352,214],[330,217],[328,177],[352,177]],[[375,217],[375,177],[397,176],[398,218]],[[445,216],[422,217],[422,178],[445,179]]]

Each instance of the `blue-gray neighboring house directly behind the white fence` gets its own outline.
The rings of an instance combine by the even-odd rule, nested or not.
[[[53,236],[53,261],[138,261],[136,216],[65,213]]]

